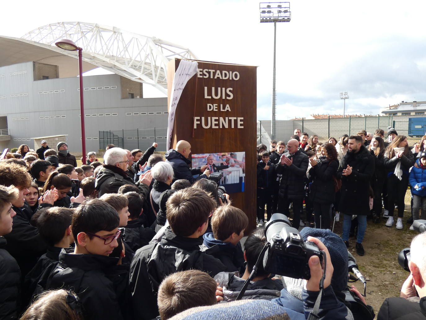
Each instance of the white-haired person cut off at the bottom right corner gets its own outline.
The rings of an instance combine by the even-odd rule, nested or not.
[[[426,319],[426,232],[411,241],[410,275],[401,288],[399,298],[387,298],[377,320]]]

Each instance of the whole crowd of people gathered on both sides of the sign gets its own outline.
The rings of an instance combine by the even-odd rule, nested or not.
[[[309,259],[309,279],[273,275],[257,263],[267,244],[264,230],[245,234],[248,215],[226,193],[219,197],[209,179],[217,169],[212,157],[191,168],[187,141],[164,157],[154,153],[156,143],[145,152],[108,145],[103,163],[89,152],[80,167],[64,142],[2,154],[0,319],[368,319],[345,298],[351,292],[366,305],[348,287],[351,227],[358,222],[357,252],[364,254],[366,216],[380,220],[382,195],[393,195],[388,222],[392,201],[398,217],[403,210],[398,197],[408,181],[418,191],[414,219],[424,204],[424,146],[412,151],[405,137],[390,131],[386,149],[376,134],[368,143],[360,132],[321,144],[300,130],[288,143],[271,141],[269,152],[258,146],[258,225],[266,206],[268,219],[292,211],[299,228],[305,201],[311,225],[300,237],[323,252],[322,261]],[[338,212],[343,239],[330,230]],[[413,239],[410,277],[402,298],[394,298],[404,301],[386,300],[379,319],[393,318],[397,305],[424,318],[425,241],[426,234]],[[368,315],[372,319],[373,311]]]

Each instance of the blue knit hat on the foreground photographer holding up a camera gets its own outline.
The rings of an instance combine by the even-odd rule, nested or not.
[[[308,236],[320,239],[327,247],[334,268],[331,286],[336,292],[345,290],[348,285],[348,249],[346,249],[343,240],[329,229],[309,227],[300,230],[300,236],[302,236],[303,241],[306,241]]]

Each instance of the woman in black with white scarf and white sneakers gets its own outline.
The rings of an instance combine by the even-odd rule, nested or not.
[[[408,187],[409,169],[414,165],[414,154],[408,147],[406,136],[397,136],[388,145],[383,157],[383,163],[388,173],[388,207],[389,218],[387,227],[394,224],[394,205],[398,206],[398,220],[396,228],[403,228],[404,198]]]

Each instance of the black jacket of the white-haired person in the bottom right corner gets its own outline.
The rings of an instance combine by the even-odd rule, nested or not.
[[[377,314],[377,320],[417,319],[426,319],[426,297],[421,298],[420,302],[411,302],[405,298],[387,298]]]

